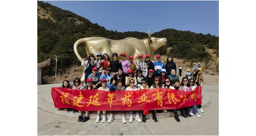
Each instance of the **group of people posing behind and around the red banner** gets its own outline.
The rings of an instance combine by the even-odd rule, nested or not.
[[[145,55],[145,60],[143,61],[143,55],[139,55],[138,62],[134,62],[134,57],[131,56],[126,59],[126,54],[123,52],[119,54],[121,59],[118,58],[118,54],[113,53],[113,60],[110,61],[108,54],[98,53],[96,55],[97,59],[93,54],[90,54],[88,59],[83,58],[81,65],[86,68],[85,73],[85,82],[86,86],[83,86],[81,80],[79,78],[75,78],[73,81],[74,86],[70,86],[70,82],[68,80],[64,80],[62,83],[63,88],[73,88],[73,89],[98,89],[102,91],[116,91],[116,90],[128,90],[128,91],[136,91],[140,89],[149,89],[149,88],[171,88],[181,91],[192,91],[196,88],[196,85],[201,85],[203,80],[199,80],[200,72],[202,69],[196,68],[195,70],[199,72],[195,72],[198,75],[198,82],[196,82],[197,77],[194,78],[195,74],[187,74],[186,77],[183,77],[181,82],[179,76],[176,74],[176,64],[173,62],[173,58],[168,56],[166,59],[166,64],[161,60],[160,55],[156,55],[157,61],[151,61],[149,54]],[[179,69],[181,69],[179,65]],[[188,69],[186,72],[190,72]],[[192,77],[191,77],[192,75]],[[181,72],[180,72],[181,76]],[[194,105],[192,109],[196,116],[201,117],[199,112],[204,112],[201,105]],[[165,110],[150,110],[153,116],[153,120],[157,121],[156,113],[167,112],[168,109]],[[177,110],[168,110],[173,111],[175,114],[175,120],[180,122],[180,119],[177,115]],[[181,116],[187,118],[191,117],[194,114],[191,111],[190,107],[184,107],[179,109],[181,111]],[[73,111],[74,109],[65,109],[65,111]],[[84,111],[85,116],[82,116],[83,111],[79,112],[78,122],[86,122],[89,120],[88,114],[89,111]],[[100,120],[101,111],[97,111],[96,123]],[[113,122],[113,113],[110,112],[110,117],[108,119],[108,123]],[[122,123],[126,123],[124,111],[122,113]],[[129,111],[130,118],[129,122],[132,123],[134,120],[133,111]],[[137,122],[146,122],[145,114],[141,111],[135,111],[136,117],[135,120]],[[142,113],[142,120],[140,118],[140,113]],[[106,111],[102,111],[102,123],[106,122]]]

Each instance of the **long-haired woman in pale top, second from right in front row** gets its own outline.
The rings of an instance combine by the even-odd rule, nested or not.
[[[188,83],[189,82],[188,77],[183,77],[181,81],[182,81],[180,84],[181,90],[182,91],[191,91],[191,89],[189,88],[190,84]],[[180,108],[181,116],[183,116],[184,118],[187,118],[188,116],[191,117],[192,115],[189,114],[189,110],[190,110],[189,107]]]

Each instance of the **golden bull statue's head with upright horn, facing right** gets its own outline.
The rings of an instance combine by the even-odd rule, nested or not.
[[[156,51],[158,48],[166,45],[167,39],[166,38],[156,38],[151,37],[150,31],[148,30],[148,44],[150,45],[153,51]]]

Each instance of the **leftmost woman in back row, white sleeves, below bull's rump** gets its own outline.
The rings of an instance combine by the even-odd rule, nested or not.
[[[95,59],[93,54],[89,55],[89,59],[86,60],[87,58],[82,58],[83,61],[81,63],[82,66],[86,67],[84,74],[85,74],[85,80],[88,78],[88,76],[92,73],[93,67],[96,66],[97,60]]]

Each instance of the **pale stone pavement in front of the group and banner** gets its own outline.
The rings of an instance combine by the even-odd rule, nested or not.
[[[218,83],[204,84],[203,94],[210,103],[201,118],[192,116],[180,122],[174,117],[160,118],[158,122],[147,119],[146,123],[122,124],[114,120],[111,124],[95,123],[95,119],[77,122],[77,118],[55,115],[38,108],[38,135],[218,135]],[[128,120],[127,120],[128,122]]]

